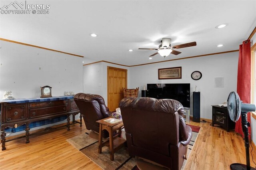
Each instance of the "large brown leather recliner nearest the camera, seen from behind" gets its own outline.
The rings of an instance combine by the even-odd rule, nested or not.
[[[129,155],[180,170],[192,130],[182,117],[180,102],[172,99],[128,97],[120,101]]]

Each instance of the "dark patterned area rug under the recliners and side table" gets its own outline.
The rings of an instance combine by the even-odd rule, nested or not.
[[[188,157],[200,130],[200,127],[189,126],[192,128],[193,134],[188,145]],[[115,152],[114,161],[110,160],[109,148],[106,146],[102,147],[102,153],[99,154],[98,141],[90,139],[89,132],[67,139],[67,141],[104,170],[138,170],[135,158],[129,156],[126,148],[121,148]],[[184,169],[185,164],[186,160],[184,160],[182,169]]]

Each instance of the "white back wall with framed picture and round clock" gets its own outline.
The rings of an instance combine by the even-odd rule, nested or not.
[[[171,57],[171,55],[170,55]],[[190,115],[192,115],[192,92],[195,86],[200,91],[200,116],[212,119],[211,105],[218,105],[228,99],[231,91],[236,91],[238,52],[220,55],[208,55],[163,63],[130,67],[130,87],[140,87],[147,83],[190,83]],[[158,69],[182,67],[182,79],[158,80]],[[200,71],[202,78],[195,81],[191,78],[193,71]],[[214,77],[224,77],[224,87],[214,87]],[[141,96],[141,91],[139,96]]]

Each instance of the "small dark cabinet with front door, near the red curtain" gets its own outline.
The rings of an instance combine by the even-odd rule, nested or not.
[[[212,106],[212,126],[214,124],[219,125],[229,132],[235,128],[235,123],[230,119],[228,109],[226,107],[220,107],[218,105]]]

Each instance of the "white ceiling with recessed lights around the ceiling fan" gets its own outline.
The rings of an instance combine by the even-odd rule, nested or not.
[[[1,0],[0,6],[10,2]],[[50,4],[50,14],[0,14],[0,38],[83,55],[85,63],[136,65],[236,50],[256,26],[256,0],[27,3]],[[215,28],[222,23],[228,26]],[[171,38],[172,45],[196,41],[197,46],[177,49],[182,53],[165,59],[155,55],[152,60],[148,56],[156,51],[138,50],[158,48],[162,38]]]

